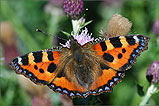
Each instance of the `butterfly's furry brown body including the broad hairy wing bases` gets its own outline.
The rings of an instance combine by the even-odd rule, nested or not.
[[[67,56],[65,63],[68,63],[69,67],[64,66],[63,72],[66,76],[70,76],[68,79],[71,82],[74,81],[89,90],[91,84],[102,73],[102,70],[97,64],[99,59],[92,56],[93,53],[95,55],[95,52],[91,50],[89,44],[81,46],[74,38],[71,38],[68,52],[69,56]]]

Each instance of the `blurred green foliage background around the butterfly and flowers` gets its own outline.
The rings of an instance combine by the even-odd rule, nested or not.
[[[71,32],[71,20],[64,14],[47,13],[45,6],[48,1],[23,0],[23,1],[0,1],[0,21],[10,21],[18,38],[17,47],[22,54],[51,48],[53,46],[53,37],[60,35],[67,38],[60,31]],[[89,33],[94,37],[99,35],[101,29],[106,29],[108,20],[113,14],[119,13],[128,18],[133,27],[130,34],[143,34],[151,38],[149,49],[141,54],[135,65],[126,72],[124,80],[114,87],[113,93],[104,93],[97,98],[91,98],[88,104],[105,105],[138,105],[142,97],[137,93],[137,84],[143,86],[146,92],[149,83],[146,80],[146,71],[149,65],[159,60],[159,45],[157,37],[152,31],[153,22],[159,19],[159,1],[158,0],[123,0],[122,5],[108,6],[103,1],[85,1],[84,5],[88,8],[85,12],[86,21],[93,20],[89,24]],[[60,8],[60,7],[58,7]],[[62,9],[62,8],[61,8]],[[42,29],[52,36],[43,35],[35,31],[36,28]],[[0,46],[0,57],[3,57],[2,47]],[[31,97],[19,86],[18,78],[15,72],[5,66],[4,61],[0,61],[0,105],[31,105]],[[52,92],[53,93],[53,92]],[[53,93],[55,94],[55,93]],[[54,105],[59,105],[59,100],[50,95]],[[159,94],[154,94],[149,104],[159,105]],[[74,102],[78,104],[81,102]]]

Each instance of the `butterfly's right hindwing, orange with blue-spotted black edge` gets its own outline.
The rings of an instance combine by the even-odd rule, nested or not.
[[[123,71],[115,71],[108,67],[103,67],[102,75],[92,83],[91,90],[93,95],[100,94],[102,92],[112,92],[112,88],[122,81],[125,74]]]

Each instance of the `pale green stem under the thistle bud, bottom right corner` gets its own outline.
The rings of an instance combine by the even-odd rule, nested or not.
[[[155,87],[154,84],[151,84],[151,86],[148,88],[146,95],[144,96],[143,100],[141,101],[139,106],[145,106],[150,97],[152,96],[153,93],[157,91],[157,88]]]

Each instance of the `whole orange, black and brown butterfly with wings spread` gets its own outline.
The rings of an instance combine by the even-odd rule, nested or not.
[[[112,92],[141,52],[149,37],[126,35],[95,39],[81,45],[70,36],[70,46],[31,52],[14,58],[10,67],[31,81],[74,97]]]

